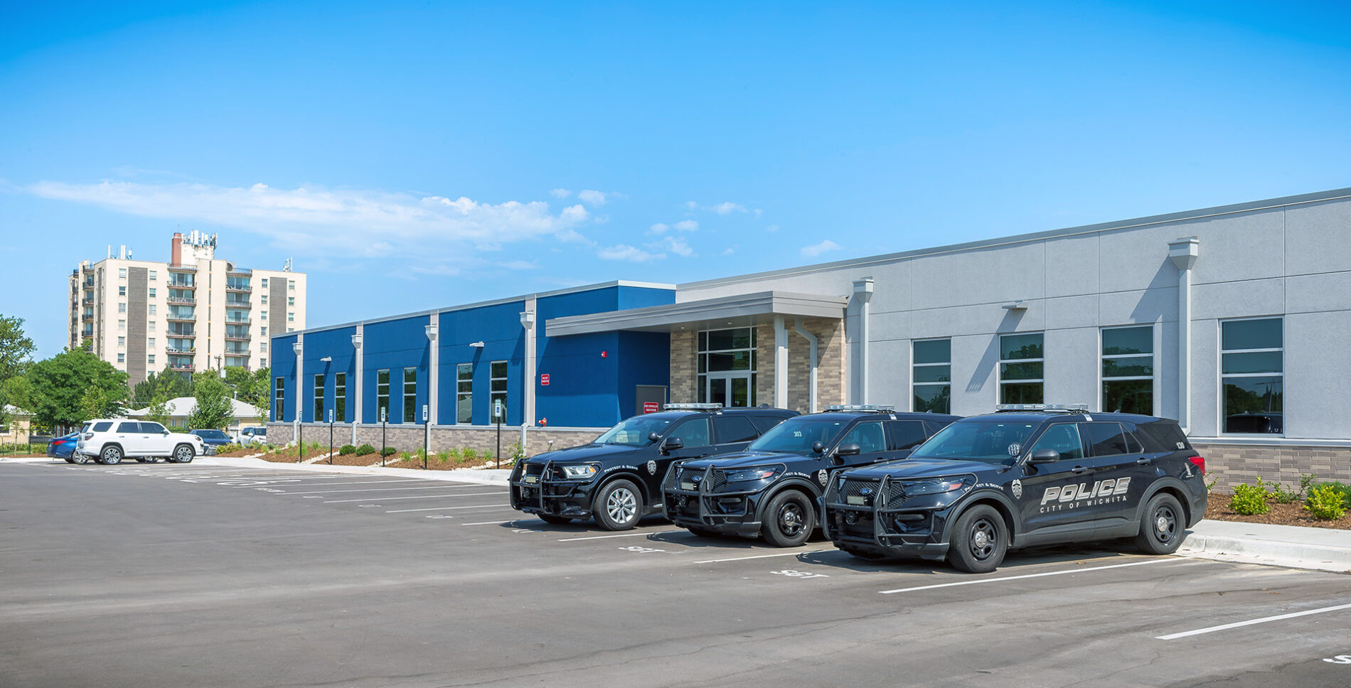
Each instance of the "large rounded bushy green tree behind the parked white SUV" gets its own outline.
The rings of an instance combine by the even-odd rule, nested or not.
[[[38,426],[73,427],[89,419],[86,411],[93,408],[85,408],[85,395],[91,388],[103,397],[95,418],[120,415],[127,399],[127,373],[84,349],[68,349],[31,364],[27,378],[28,411]]]

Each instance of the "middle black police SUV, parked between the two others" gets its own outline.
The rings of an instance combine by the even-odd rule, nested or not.
[[[957,418],[830,407],[785,420],[746,451],[671,464],[662,483],[666,518],[696,535],[759,534],[794,547],[820,522],[830,470],[905,458]]]

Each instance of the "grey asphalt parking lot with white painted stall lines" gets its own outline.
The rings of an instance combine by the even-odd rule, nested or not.
[[[1020,553],[971,576],[505,488],[0,465],[0,685],[1351,685],[1351,577]]]

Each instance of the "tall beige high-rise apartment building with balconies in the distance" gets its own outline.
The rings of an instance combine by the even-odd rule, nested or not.
[[[135,385],[181,372],[267,368],[272,335],[305,328],[305,273],[216,258],[216,235],[174,232],[168,262],[116,255],[70,274],[72,349],[85,346]]]

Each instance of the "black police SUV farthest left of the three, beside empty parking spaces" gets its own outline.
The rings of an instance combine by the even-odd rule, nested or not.
[[[746,449],[797,411],[667,404],[632,416],[594,442],[517,461],[511,506],[549,523],[596,516],[605,530],[627,530],[661,512],[661,480],[671,461]]]

